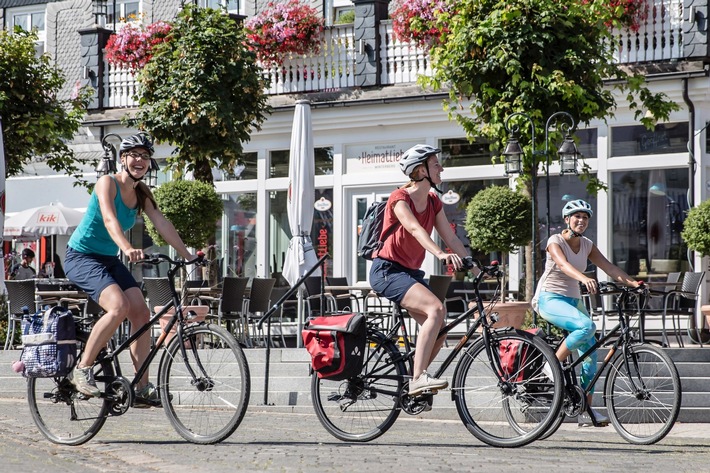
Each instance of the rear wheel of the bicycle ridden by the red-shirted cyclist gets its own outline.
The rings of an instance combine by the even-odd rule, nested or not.
[[[382,333],[368,330],[362,370],[343,381],[311,379],[316,416],[335,438],[369,442],[392,427],[400,413],[407,369],[401,353]]]

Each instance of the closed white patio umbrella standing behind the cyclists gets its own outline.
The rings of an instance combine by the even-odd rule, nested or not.
[[[283,267],[283,276],[292,286],[318,262],[310,236],[315,201],[314,176],[315,157],[311,103],[308,100],[299,100],[296,102],[293,118],[288,167],[288,222],[293,236],[288,245]],[[320,274],[320,270],[313,274]],[[300,334],[304,319],[303,288],[298,289],[297,319],[296,340],[297,346],[300,347],[302,345]]]

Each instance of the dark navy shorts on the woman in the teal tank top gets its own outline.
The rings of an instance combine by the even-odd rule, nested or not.
[[[95,302],[99,302],[101,292],[111,284],[118,284],[123,291],[140,287],[118,256],[89,255],[67,247],[64,272]]]

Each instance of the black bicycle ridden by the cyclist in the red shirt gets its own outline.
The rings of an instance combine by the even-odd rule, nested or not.
[[[470,258],[465,260],[469,268],[474,266]],[[466,428],[489,445],[526,445],[557,419],[563,398],[562,371],[559,363],[552,363],[555,354],[542,338],[512,328],[492,328],[495,320],[484,310],[478,285],[486,276],[497,278],[500,285],[501,272],[497,263],[475,266],[481,270],[473,279],[475,307],[442,328],[439,336],[474,313],[480,316],[433,376],[441,377],[458,357],[451,397]],[[311,396],[318,419],[340,440],[373,440],[394,424],[400,412],[415,415],[431,406],[431,394],[408,394],[415,348],[401,310],[395,306],[387,315],[394,318],[391,328],[384,328],[377,317],[368,320],[365,361],[359,375],[331,381],[313,374]],[[504,359],[511,347],[525,354],[514,366]],[[553,367],[554,380],[541,372],[546,361]]]

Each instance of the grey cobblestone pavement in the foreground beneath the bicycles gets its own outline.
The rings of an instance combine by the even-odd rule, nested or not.
[[[233,471],[710,471],[710,426],[677,424],[661,443],[626,443],[612,427],[565,424],[550,439],[518,449],[488,447],[460,421],[403,414],[366,444],[331,437],[314,414],[250,408],[239,429],[218,445],[185,442],[160,409],[134,409],[109,419],[79,447],[54,445],[39,433],[20,399],[0,400],[4,472]]]

